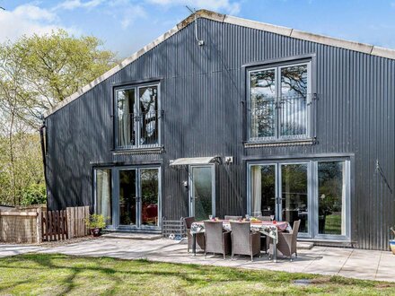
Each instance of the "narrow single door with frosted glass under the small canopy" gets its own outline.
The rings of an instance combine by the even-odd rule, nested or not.
[[[214,165],[189,167],[189,214],[198,221],[215,216]]]

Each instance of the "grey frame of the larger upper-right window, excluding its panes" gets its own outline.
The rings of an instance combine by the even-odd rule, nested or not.
[[[280,135],[280,111],[277,108],[277,105],[281,100],[281,69],[289,66],[297,66],[297,65],[307,65],[307,98],[306,98],[306,134],[305,135]],[[303,58],[296,60],[288,60],[282,62],[273,62],[264,65],[252,65],[246,69],[246,113],[247,113],[247,143],[272,143],[272,142],[289,142],[289,141],[303,141],[306,139],[312,138],[312,94],[313,94],[313,59]],[[267,71],[267,70],[275,70],[275,103],[276,103],[276,111],[275,111],[275,133],[274,136],[267,137],[252,137],[251,136],[251,109],[250,109],[250,75],[251,73],[257,73],[259,71]]]

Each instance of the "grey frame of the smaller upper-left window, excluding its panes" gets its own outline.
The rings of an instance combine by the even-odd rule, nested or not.
[[[138,92],[141,88],[156,86],[157,88],[157,115],[158,118],[158,141],[156,144],[139,144],[141,136],[141,127],[143,126],[139,121],[136,124],[136,144],[121,146],[118,144],[118,91],[135,90],[135,100],[137,102],[137,110],[140,112],[140,100]],[[138,149],[152,149],[162,146],[162,107],[161,107],[161,83],[159,81],[146,82],[146,83],[129,83],[121,84],[113,88],[113,133],[114,133],[114,150],[115,151],[127,151],[127,150],[138,150]],[[138,113],[140,114],[140,113]]]

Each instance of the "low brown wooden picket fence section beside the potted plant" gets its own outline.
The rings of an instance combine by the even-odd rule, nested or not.
[[[89,206],[67,207],[61,211],[42,212],[42,240],[53,241],[74,239],[89,234],[85,220],[89,217]]]

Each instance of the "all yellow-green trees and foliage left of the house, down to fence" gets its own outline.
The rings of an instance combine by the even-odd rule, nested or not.
[[[0,204],[19,205],[43,183],[41,116],[117,63],[101,46],[65,30],[0,44]]]

